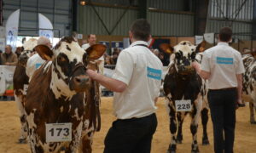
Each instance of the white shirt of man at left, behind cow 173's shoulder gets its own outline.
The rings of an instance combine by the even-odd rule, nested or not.
[[[45,62],[44,59],[42,59],[39,54],[33,54],[32,57],[27,59],[26,62],[26,75],[29,77],[29,80],[31,80],[32,75],[34,72]]]

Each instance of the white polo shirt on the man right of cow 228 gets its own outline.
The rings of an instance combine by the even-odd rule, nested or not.
[[[241,54],[226,42],[207,49],[203,53],[201,70],[210,72],[208,87],[210,89],[236,88],[236,74],[243,73]]]

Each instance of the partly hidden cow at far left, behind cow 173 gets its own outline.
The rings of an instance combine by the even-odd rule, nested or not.
[[[26,144],[27,136],[26,113],[24,110],[24,104],[26,102],[26,88],[28,86],[29,78],[26,75],[26,62],[27,59],[32,56],[34,52],[33,48],[37,45],[37,43],[37,39],[34,38],[24,42],[13,78],[15,102],[20,113],[21,130],[20,138],[18,139],[19,144]]]

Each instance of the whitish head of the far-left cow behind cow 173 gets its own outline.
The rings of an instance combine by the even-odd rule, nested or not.
[[[21,48],[21,53],[19,56],[20,65],[26,66],[27,59],[34,54],[34,48],[37,46],[38,40],[35,38],[31,38],[24,42],[23,47]]]

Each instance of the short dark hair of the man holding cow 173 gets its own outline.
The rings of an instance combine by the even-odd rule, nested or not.
[[[133,34],[133,37],[137,40],[143,40],[145,42],[148,42],[148,37],[150,36],[151,28],[148,23],[148,20],[139,19],[135,20],[131,24],[130,31]]]

